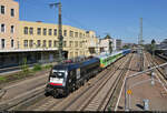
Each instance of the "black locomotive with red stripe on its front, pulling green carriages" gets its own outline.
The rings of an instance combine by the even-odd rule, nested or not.
[[[52,68],[46,86],[46,94],[67,96],[70,92],[84,85],[90,78],[100,71],[98,58],[84,62],[58,64]]]

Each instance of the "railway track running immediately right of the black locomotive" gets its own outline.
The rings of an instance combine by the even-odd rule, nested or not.
[[[122,58],[122,61],[126,58]],[[121,61],[121,60],[120,60]],[[118,63],[120,61],[117,61],[115,63]],[[90,81],[94,81],[94,79],[91,79],[90,81],[88,81],[86,83],[85,86],[81,86],[79,90],[75,91],[73,93],[71,93],[68,97],[66,99],[53,99],[51,96],[49,97],[45,97],[43,100],[40,100],[36,103],[33,103],[32,105],[30,105],[29,107],[27,107],[26,110],[33,110],[33,111],[49,111],[49,110],[53,110],[53,111],[62,111],[62,110],[68,110],[68,107],[70,107],[70,105],[72,103],[75,103],[78,99],[80,99],[80,96],[82,96],[85,93],[87,93],[90,89],[95,88],[96,85],[98,85],[98,83],[100,84],[100,81],[104,80],[104,75],[106,76],[106,74],[114,70],[114,66],[109,66],[107,70],[102,71],[101,75],[97,75],[97,80],[95,80],[95,82],[89,85]]]

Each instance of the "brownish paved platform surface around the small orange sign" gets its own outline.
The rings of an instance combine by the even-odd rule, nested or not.
[[[134,59],[131,63],[131,68],[129,69],[128,75],[131,75],[138,72],[139,68],[137,64],[138,58]],[[136,78],[131,78],[128,80],[128,86],[131,86],[138,82],[147,81],[150,79],[150,73],[145,73]],[[158,78],[154,78],[156,80],[155,85],[151,84],[151,81],[145,82],[140,85],[134,86],[130,94],[130,111],[144,111],[144,100],[149,100],[149,110],[150,111],[167,111],[167,92],[163,88],[161,83],[159,83]],[[125,89],[122,90],[121,97],[117,107],[117,111],[125,111]]]

